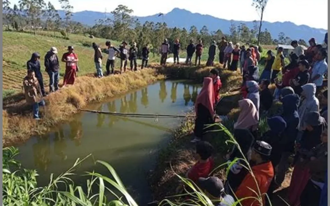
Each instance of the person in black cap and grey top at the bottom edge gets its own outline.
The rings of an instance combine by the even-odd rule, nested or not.
[[[232,196],[225,194],[223,183],[217,177],[200,177],[198,178],[198,186],[216,206],[233,205],[235,203]]]

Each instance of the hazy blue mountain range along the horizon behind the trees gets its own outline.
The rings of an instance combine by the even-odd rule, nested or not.
[[[61,17],[64,17],[64,12],[59,11]],[[111,13],[93,12],[93,11],[82,11],[73,14],[72,20],[81,22],[82,24],[92,26],[95,24],[96,20],[113,18]],[[136,16],[139,21],[143,24],[146,21],[162,22],[162,17],[158,17],[158,14],[151,16]],[[175,8],[171,12],[164,14],[164,21],[169,27],[179,27],[190,29],[192,25],[196,26],[200,30],[204,25],[207,26],[209,31],[216,31],[221,29],[225,34],[229,34],[229,27],[231,25],[230,20],[217,18],[211,15],[202,15],[198,13],[191,13],[184,9]],[[240,23],[245,23],[249,28],[253,28],[252,21],[233,21],[236,25]],[[296,25],[292,22],[267,22],[263,21],[262,30],[267,29],[273,39],[277,39],[280,32],[283,32],[285,36],[290,37],[292,40],[303,39],[306,42],[311,37],[314,37],[317,42],[322,43],[324,40],[324,35],[327,32],[325,29],[312,28],[306,25]]]

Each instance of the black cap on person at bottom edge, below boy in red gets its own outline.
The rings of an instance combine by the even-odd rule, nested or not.
[[[223,183],[217,177],[200,177],[198,178],[198,186],[216,198],[220,198],[224,192]]]

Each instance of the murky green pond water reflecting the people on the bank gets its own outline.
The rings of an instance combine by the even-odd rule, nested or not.
[[[151,114],[183,114],[193,107],[199,85],[184,81],[160,81],[87,109]],[[77,173],[96,171],[111,176],[95,160],[110,163],[123,184],[140,205],[151,201],[147,173],[155,166],[157,151],[165,146],[180,119],[131,118],[82,112],[69,123],[53,128],[45,135],[34,136],[19,145],[18,160],[25,168],[37,169],[38,184],[46,185],[51,173],[59,175],[77,158],[92,154]],[[75,176],[76,185],[86,185],[85,177]]]

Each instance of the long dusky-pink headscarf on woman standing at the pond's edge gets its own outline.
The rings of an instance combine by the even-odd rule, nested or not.
[[[204,77],[203,87],[199,92],[196,102],[195,102],[195,112],[198,114],[197,107],[198,104],[204,105],[209,111],[210,114],[214,114],[214,89],[213,89],[213,80],[211,77]]]

